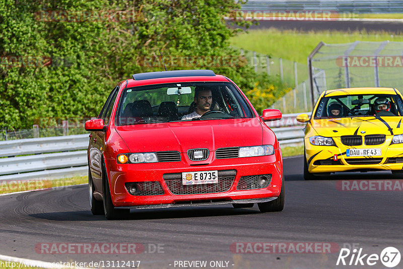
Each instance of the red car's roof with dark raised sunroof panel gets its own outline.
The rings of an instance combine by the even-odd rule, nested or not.
[[[229,80],[225,76],[216,75],[211,70],[175,70],[148,72],[135,74],[132,75],[132,77],[133,79],[127,80],[126,88],[178,82],[229,82]]]

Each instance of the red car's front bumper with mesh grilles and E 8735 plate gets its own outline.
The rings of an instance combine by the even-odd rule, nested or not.
[[[181,153],[181,158],[180,162],[141,164],[117,164],[115,159],[106,159],[105,163],[113,205],[115,207],[150,206],[150,208],[153,208],[152,205],[184,205],[189,201],[199,201],[202,204],[204,200],[217,201],[218,203],[221,201],[223,202],[222,204],[226,204],[225,201],[264,199],[280,195],[283,171],[280,150],[276,150],[275,155],[261,157],[215,159],[214,156],[211,156],[211,159],[201,162],[208,164],[190,162],[185,153]],[[215,193],[192,193],[189,188],[194,185],[185,187],[181,185],[182,172],[211,170],[219,171],[219,183],[217,184],[220,184],[220,186],[210,186]],[[272,175],[270,184],[267,187],[239,189],[238,182],[241,177],[267,174]],[[224,183],[220,183],[220,178],[226,180],[226,186],[224,186]],[[170,180],[175,180],[175,182]],[[149,192],[152,195],[144,195],[144,193],[142,195],[132,195],[125,187],[126,182],[151,182],[151,185],[160,188],[160,192],[157,195],[153,194],[152,192],[155,188],[149,187]],[[203,188],[203,186],[197,187]],[[163,194],[161,194],[161,191],[163,191]],[[205,189],[204,191],[208,190]],[[158,191],[156,192],[158,193]],[[266,200],[270,199],[262,201]],[[187,204],[190,205],[191,203]]]

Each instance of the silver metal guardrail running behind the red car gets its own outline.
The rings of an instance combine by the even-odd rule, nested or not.
[[[284,114],[277,122],[267,122],[280,145],[297,146],[303,143],[303,126],[295,120],[297,115]],[[88,143],[88,133],[1,141],[0,182],[86,175]]]

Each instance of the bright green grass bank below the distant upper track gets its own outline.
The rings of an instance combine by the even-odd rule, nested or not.
[[[403,35],[387,32],[338,32],[296,30],[280,31],[274,28],[250,30],[230,39],[231,45],[246,50],[254,50],[263,54],[295,60],[306,64],[306,58],[311,51],[323,41],[327,44],[350,43],[360,41],[403,41]]]

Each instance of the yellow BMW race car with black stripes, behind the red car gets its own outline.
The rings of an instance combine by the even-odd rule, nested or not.
[[[322,92],[305,122],[304,178],[330,172],[391,170],[403,176],[403,101],[393,88]]]

